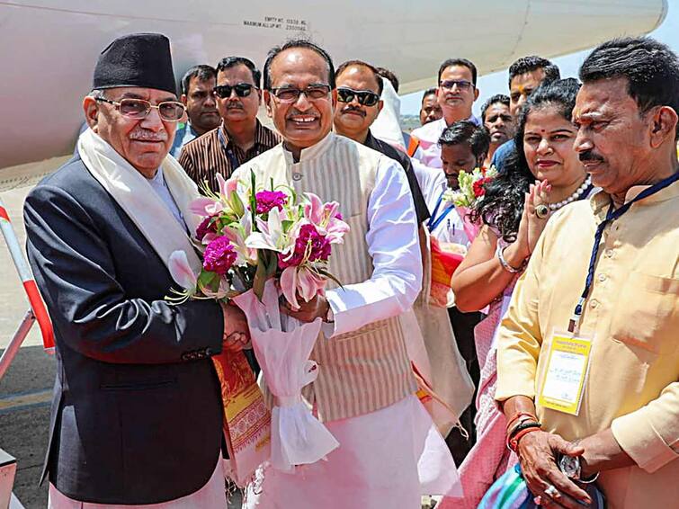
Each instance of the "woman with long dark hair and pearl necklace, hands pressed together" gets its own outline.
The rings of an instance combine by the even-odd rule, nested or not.
[[[475,329],[481,367],[478,442],[461,465],[465,499],[462,505],[451,500],[455,507],[476,508],[487,488],[515,461],[505,447],[508,423],[494,400],[493,338],[549,216],[593,191],[573,148],[576,128],[570,119],[578,89],[575,79],[558,80],[541,86],[524,105],[514,137],[516,148],[505,172],[487,184],[483,201],[472,211],[472,218],[484,227],[452,277],[460,310],[489,306],[487,318]]]

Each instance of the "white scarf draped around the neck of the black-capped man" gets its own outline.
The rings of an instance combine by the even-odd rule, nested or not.
[[[147,178],[92,129],[86,129],[80,135],[77,149],[90,174],[130,216],[165,266],[168,267],[170,255],[174,251],[182,250],[186,253],[194,272],[200,272],[201,260],[192,246],[189,235],[151,187]],[[166,156],[161,167],[165,184],[182,212],[186,227],[190,232],[194,232],[201,221],[201,218],[189,209],[191,202],[200,197],[196,184],[173,156]]]

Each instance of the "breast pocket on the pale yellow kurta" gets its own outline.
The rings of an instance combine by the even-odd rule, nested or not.
[[[631,272],[613,312],[612,338],[659,353],[679,321],[679,279]],[[672,332],[674,330],[674,333]]]

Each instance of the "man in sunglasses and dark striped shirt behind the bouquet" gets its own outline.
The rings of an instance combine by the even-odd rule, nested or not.
[[[186,173],[199,185],[218,189],[217,174],[228,178],[239,165],[277,145],[281,138],[257,120],[262,100],[262,73],[243,57],[222,58],[212,94],[221,125],[188,143],[179,157]]]

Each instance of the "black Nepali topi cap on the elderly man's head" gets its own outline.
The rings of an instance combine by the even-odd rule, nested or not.
[[[92,89],[116,86],[175,94],[170,40],[161,33],[132,33],[113,40],[97,59]]]

